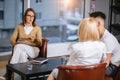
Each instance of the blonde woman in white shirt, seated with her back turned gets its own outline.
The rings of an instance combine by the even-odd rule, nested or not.
[[[95,19],[85,18],[79,24],[79,42],[70,46],[67,65],[92,65],[106,60],[105,44],[99,41]],[[54,69],[47,80],[57,79],[58,69]]]

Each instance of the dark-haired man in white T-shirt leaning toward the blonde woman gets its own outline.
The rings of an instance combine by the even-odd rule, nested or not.
[[[90,14],[95,18],[100,34],[100,41],[104,42],[107,50],[107,68],[106,75],[115,77],[120,65],[120,44],[113,34],[104,27],[106,16],[104,13],[96,11]]]

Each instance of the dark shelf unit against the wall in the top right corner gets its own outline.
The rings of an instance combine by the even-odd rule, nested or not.
[[[109,9],[109,29],[111,33],[114,33],[115,30],[120,30],[120,23],[117,19],[117,16],[120,15],[120,0],[110,0]]]

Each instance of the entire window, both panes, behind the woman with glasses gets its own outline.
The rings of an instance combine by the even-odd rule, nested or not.
[[[0,46],[4,46],[3,43],[7,44],[6,49],[0,49],[0,52],[10,50],[10,36],[15,26],[21,23],[22,12],[25,11],[23,9],[27,8],[29,5],[29,7],[35,10],[36,22],[41,26],[43,37],[48,38],[49,43],[75,41],[78,24],[76,22],[79,22],[78,18],[81,19],[80,16],[83,16],[84,0],[69,0],[73,1],[73,3],[76,2],[74,5],[73,3],[70,4],[71,6],[65,3],[64,0],[45,0],[44,3],[38,5],[36,4],[41,3],[42,0],[0,1],[3,1],[5,6],[0,10],[0,41],[2,42]],[[15,5],[16,3],[14,3],[14,1],[16,1],[17,5]],[[26,2],[23,4],[24,2],[21,1]],[[60,3],[59,1],[63,2]],[[76,15],[77,19],[74,15]]]

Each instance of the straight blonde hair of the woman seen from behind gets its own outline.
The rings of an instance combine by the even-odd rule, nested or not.
[[[85,18],[80,22],[78,36],[82,42],[99,40],[97,23],[94,18]]]

